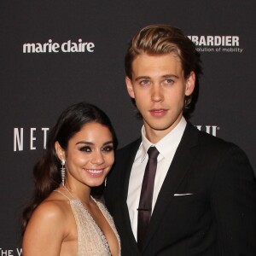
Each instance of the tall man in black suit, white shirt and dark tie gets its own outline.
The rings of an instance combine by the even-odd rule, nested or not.
[[[105,193],[122,255],[256,255],[247,156],[183,117],[201,73],[195,45],[176,27],[146,26],[131,40],[125,71],[143,128],[116,153]],[[156,151],[149,160],[148,148]]]

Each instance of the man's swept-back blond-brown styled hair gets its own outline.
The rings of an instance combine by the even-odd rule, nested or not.
[[[129,48],[125,55],[125,73],[129,79],[132,79],[132,62],[137,55],[146,53],[148,55],[163,55],[174,53],[180,59],[184,78],[195,72],[195,90],[193,100],[198,96],[198,79],[201,74],[201,59],[195,49],[195,44],[183,32],[170,25],[156,24],[143,27],[131,39]],[[185,97],[184,110],[190,108],[192,95]],[[195,102],[194,101],[194,102]]]

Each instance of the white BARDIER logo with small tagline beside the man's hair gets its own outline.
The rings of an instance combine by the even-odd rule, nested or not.
[[[238,36],[188,36],[198,52],[242,53]]]

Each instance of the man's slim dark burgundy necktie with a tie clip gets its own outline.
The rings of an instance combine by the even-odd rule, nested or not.
[[[156,172],[158,154],[159,152],[155,147],[148,148],[148,163],[143,177],[140,203],[137,209],[137,246],[141,251],[151,218],[154,177]]]

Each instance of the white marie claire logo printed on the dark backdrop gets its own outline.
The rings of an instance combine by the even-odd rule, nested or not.
[[[23,53],[70,53],[70,52],[94,52],[95,44],[92,42],[83,42],[79,39],[78,43],[68,40],[64,43],[53,43],[52,39],[48,43],[26,43],[23,44]]]

